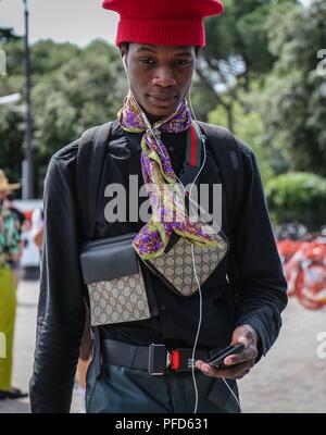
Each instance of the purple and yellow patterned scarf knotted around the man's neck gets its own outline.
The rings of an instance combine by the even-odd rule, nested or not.
[[[197,246],[218,246],[216,233],[210,225],[190,221],[179,182],[160,138],[161,132],[181,133],[191,126],[191,113],[187,101],[184,100],[172,115],[158,121],[152,126],[159,145],[147,127],[142,111],[130,90],[124,99],[124,105],[117,113],[117,119],[121,127],[127,132],[145,132],[141,139],[140,163],[152,216],[133,241],[140,258],[149,260],[163,254],[173,232]]]

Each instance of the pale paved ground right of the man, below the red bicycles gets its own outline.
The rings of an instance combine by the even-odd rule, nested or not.
[[[290,298],[283,319],[275,346],[240,382],[243,412],[326,413],[326,359],[317,357],[326,309],[310,311]]]

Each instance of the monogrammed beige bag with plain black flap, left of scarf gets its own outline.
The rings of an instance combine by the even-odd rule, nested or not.
[[[133,247],[136,234],[87,243],[80,253],[92,326],[146,320],[158,314],[151,279]]]

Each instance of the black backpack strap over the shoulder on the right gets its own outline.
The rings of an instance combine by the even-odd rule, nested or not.
[[[243,163],[239,145],[226,128],[203,122],[199,122],[199,125],[209,139],[225,186],[227,215],[231,216],[228,229],[231,233],[237,224],[243,195]]]

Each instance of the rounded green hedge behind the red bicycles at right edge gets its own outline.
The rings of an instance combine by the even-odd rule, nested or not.
[[[318,228],[326,219],[326,178],[297,172],[283,174],[267,183],[266,199],[275,224],[300,220]]]

